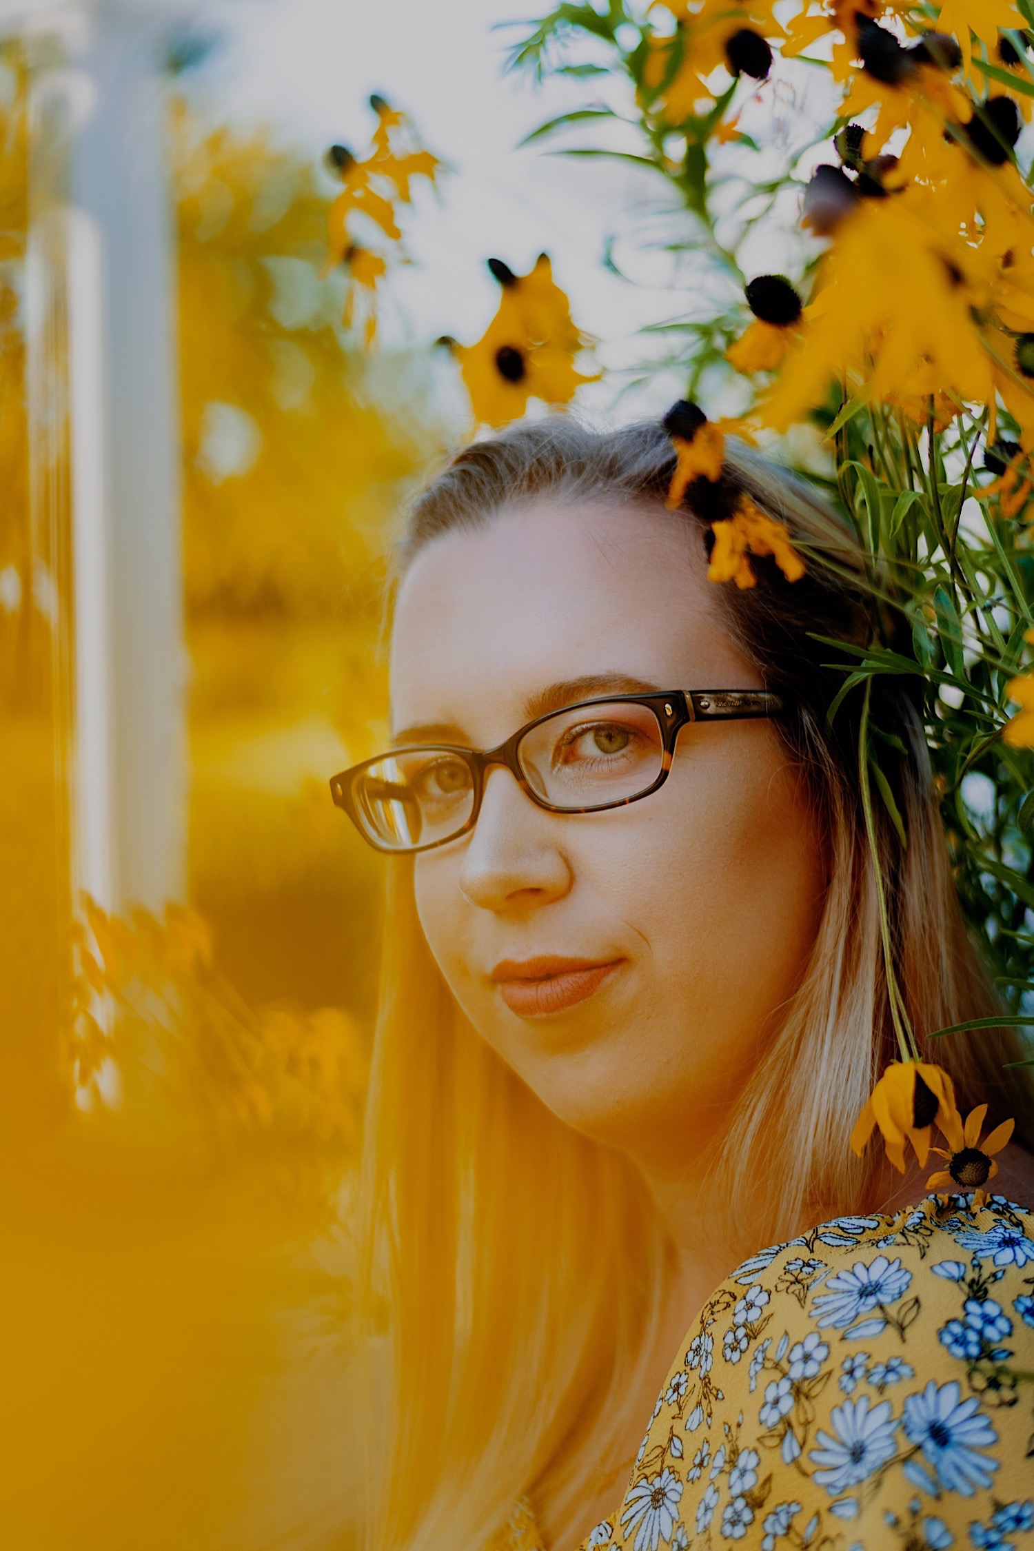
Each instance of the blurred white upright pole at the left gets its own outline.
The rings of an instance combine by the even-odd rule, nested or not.
[[[169,6],[60,12],[74,574],[74,883],[105,909],[184,895],[184,647]]]

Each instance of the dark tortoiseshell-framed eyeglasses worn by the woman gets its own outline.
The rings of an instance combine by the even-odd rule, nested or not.
[[[753,689],[581,700],[536,717],[496,749],[429,743],[363,760],[330,777],[330,794],[378,851],[429,851],[473,830],[491,765],[504,765],[547,813],[600,813],[663,785],[687,723],[781,710],[780,695]]]

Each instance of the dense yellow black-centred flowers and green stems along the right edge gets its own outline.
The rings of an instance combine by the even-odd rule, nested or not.
[[[1017,5],[564,3],[512,64],[609,93],[538,138],[614,123],[634,150],[566,154],[631,155],[663,180],[679,212],[670,245],[693,256],[702,298],[668,326],[687,399],[735,400],[769,445],[812,427],[834,454],[828,476],[809,476],[907,631],[857,651],[831,642],[831,659],[845,693],[876,675],[921,682],[960,896],[1006,999],[1026,1010],[1034,740],[1009,701],[1029,698],[1034,639],[1034,211],[1020,135],[1034,12]],[[757,273],[761,234],[792,261],[789,279]],[[907,844],[879,769],[891,735],[871,734],[873,800]]]

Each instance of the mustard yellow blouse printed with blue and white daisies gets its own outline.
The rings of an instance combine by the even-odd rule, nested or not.
[[[507,1551],[539,1551],[527,1503]],[[744,1261],[581,1551],[1034,1551],[1034,1214],[930,1196]]]

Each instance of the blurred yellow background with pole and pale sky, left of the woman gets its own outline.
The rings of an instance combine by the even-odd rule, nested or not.
[[[479,419],[436,340],[484,335],[488,257],[547,251],[580,405],[660,413],[640,330],[695,284],[631,129],[521,144],[584,102],[505,70],[533,12],[0,0],[19,1551],[352,1545],[380,870],[327,779],[383,740],[400,504]]]

